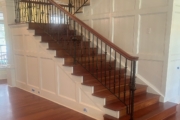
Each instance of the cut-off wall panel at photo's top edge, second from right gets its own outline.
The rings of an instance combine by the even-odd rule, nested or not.
[[[134,10],[136,0],[113,0],[113,12]]]

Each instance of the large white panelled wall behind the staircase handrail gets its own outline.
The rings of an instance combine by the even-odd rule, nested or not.
[[[91,0],[78,18],[131,55],[139,56],[137,83],[166,94],[173,0]],[[166,99],[167,100],[167,99]]]

